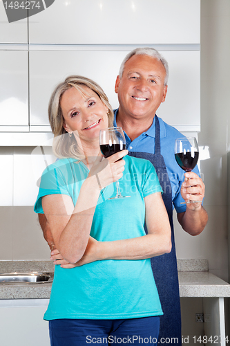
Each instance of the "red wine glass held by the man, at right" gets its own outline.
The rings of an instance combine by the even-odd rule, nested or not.
[[[199,148],[195,137],[184,137],[175,140],[175,160],[185,172],[191,172],[198,162]],[[201,203],[202,201],[191,201],[184,203]]]

